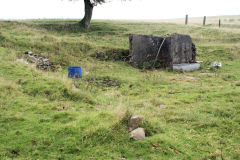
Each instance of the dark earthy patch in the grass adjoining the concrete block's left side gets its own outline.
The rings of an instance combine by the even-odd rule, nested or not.
[[[97,58],[102,61],[129,61],[129,50],[125,49],[109,49],[106,51],[97,51],[91,57]]]

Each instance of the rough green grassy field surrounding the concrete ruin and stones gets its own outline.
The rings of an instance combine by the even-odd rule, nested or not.
[[[239,29],[0,21],[0,159],[240,159]],[[116,60],[129,48],[129,33],[175,32],[191,35],[201,70],[139,70]],[[19,62],[29,50],[49,52],[57,71]],[[107,58],[93,58],[96,51]],[[210,69],[213,61],[222,69]],[[83,78],[67,78],[67,66],[82,66]],[[129,115],[144,117],[144,141],[129,138]]]

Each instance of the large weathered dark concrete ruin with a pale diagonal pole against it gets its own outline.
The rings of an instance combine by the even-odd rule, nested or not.
[[[169,37],[131,34],[130,64],[137,68],[172,67],[196,63],[196,48],[189,35]]]

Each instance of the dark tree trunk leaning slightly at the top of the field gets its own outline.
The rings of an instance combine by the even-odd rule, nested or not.
[[[90,28],[90,22],[92,19],[92,11],[93,11],[93,4],[90,2],[90,0],[84,0],[85,4],[85,15],[83,19],[80,21],[80,25],[84,28]]]

